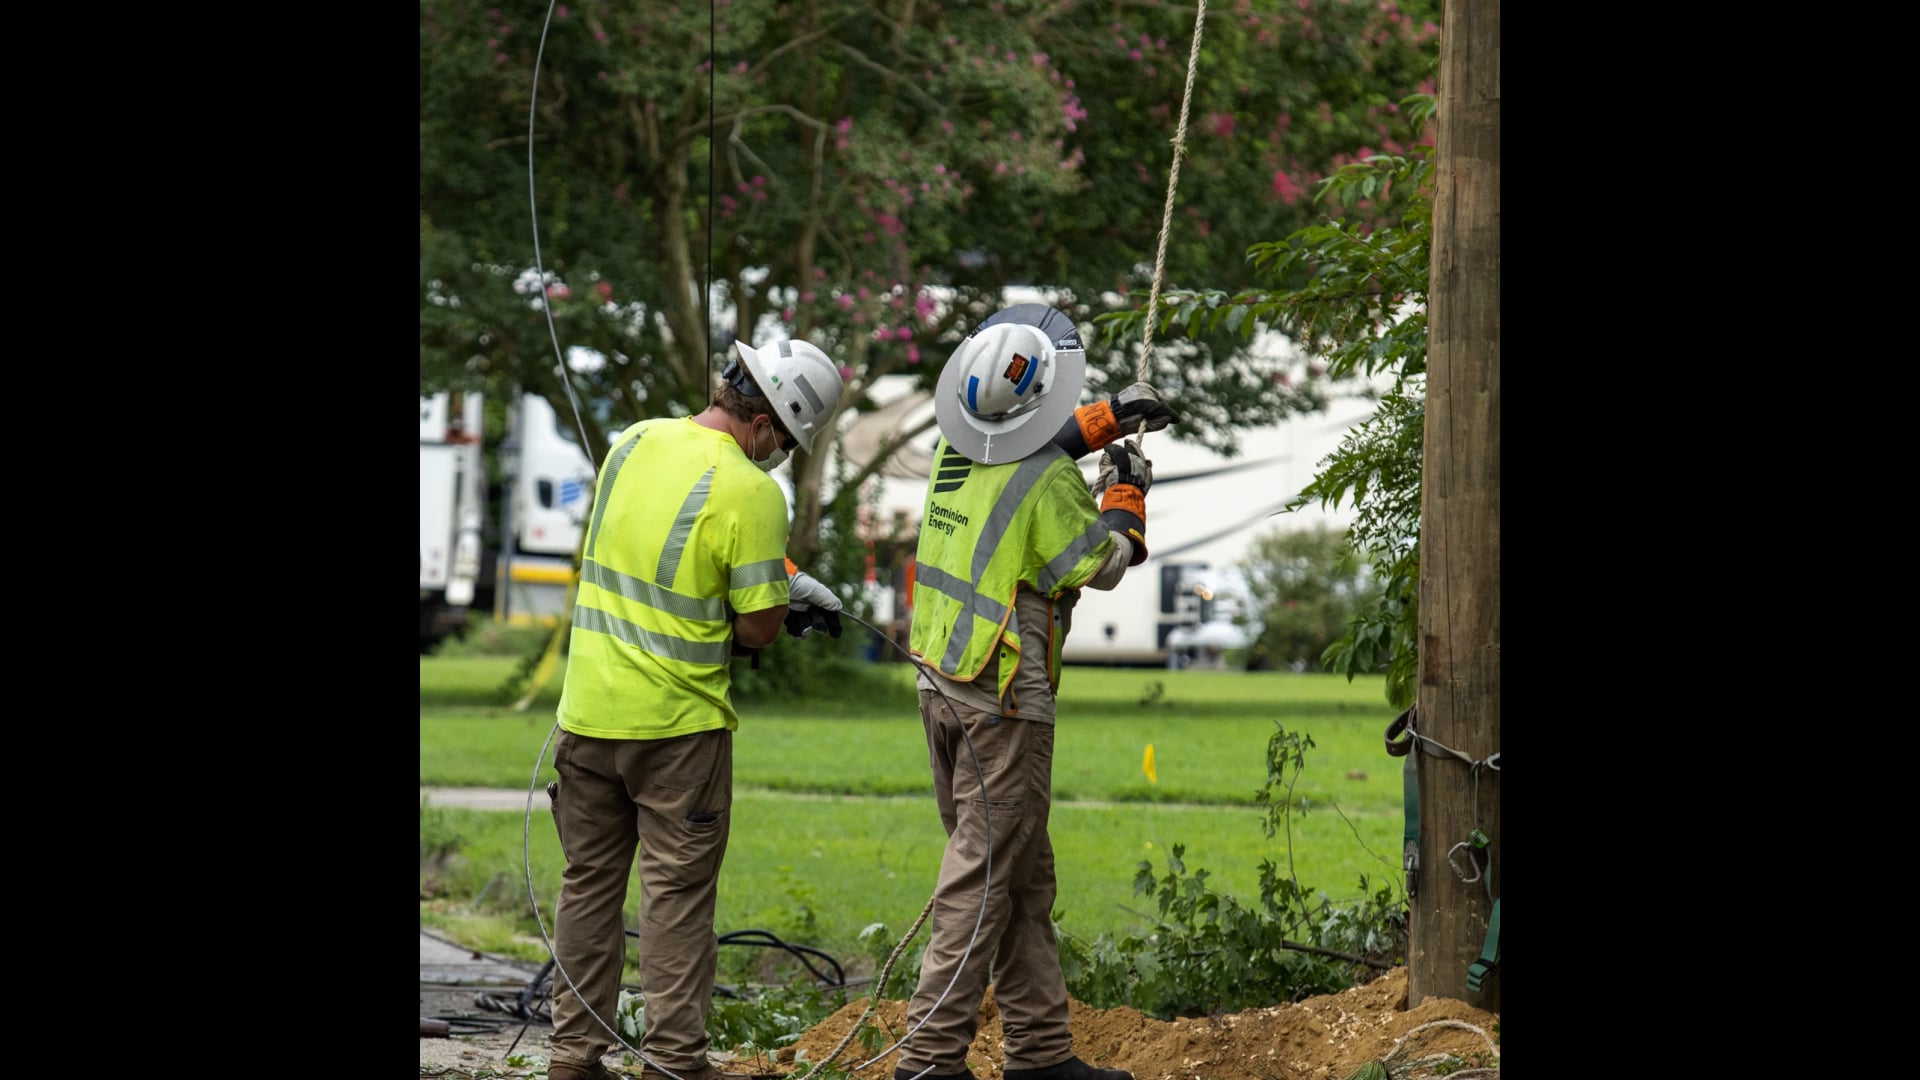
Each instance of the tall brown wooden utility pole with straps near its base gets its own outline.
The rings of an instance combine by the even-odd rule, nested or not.
[[[1440,27],[1434,236],[1421,492],[1415,730],[1473,761],[1500,753],[1500,0],[1448,0]],[[1467,990],[1500,897],[1500,773],[1419,763],[1419,892],[1407,1005],[1500,1011],[1500,976]],[[1448,853],[1480,828],[1482,880]],[[1473,872],[1465,849],[1455,853]]]

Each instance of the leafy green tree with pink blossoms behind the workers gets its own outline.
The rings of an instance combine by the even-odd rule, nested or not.
[[[1434,58],[1430,12],[1405,8],[1210,6],[1171,281],[1250,281],[1248,244],[1311,221],[1298,192],[1384,146]],[[931,386],[1012,284],[1092,329],[1148,286],[1192,15],[609,0],[543,25],[536,0],[424,0],[422,388],[520,386],[570,417],[551,315],[563,346],[611,357],[572,373],[597,459],[628,423],[701,407],[726,342],[768,327],[847,365],[843,407],[885,375]],[[536,217],[549,288],[516,292]],[[1131,380],[1137,338],[1092,344],[1091,388]],[[1279,361],[1240,346],[1156,350],[1156,382],[1192,417],[1183,438],[1231,450],[1236,429],[1323,404],[1311,373],[1277,380]],[[822,469],[795,454],[795,557],[829,509]]]

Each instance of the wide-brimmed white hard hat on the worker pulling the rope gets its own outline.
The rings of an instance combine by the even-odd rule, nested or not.
[[[933,415],[968,459],[1020,461],[1060,432],[1085,382],[1087,350],[1073,319],[1046,304],[1016,304],[954,350],[933,392]]]

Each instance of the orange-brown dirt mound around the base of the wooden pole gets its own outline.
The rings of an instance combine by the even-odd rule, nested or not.
[[[1137,1080],[1342,1080],[1363,1063],[1386,1057],[1409,1032],[1432,1020],[1473,1024],[1494,1038],[1500,1019],[1450,997],[1428,997],[1417,1009],[1405,1003],[1407,969],[1398,967],[1365,986],[1308,997],[1298,1005],[1192,1020],[1154,1020],[1125,1007],[1089,1009],[1073,1001],[1069,1026],[1079,1057],[1125,1068]],[[849,1003],[791,1049],[806,1061],[822,1061],[847,1038],[866,1005],[866,999]],[[881,1001],[870,1024],[887,1040],[874,1049],[893,1045],[906,1034],[906,1003]],[[1469,1063],[1484,1051],[1486,1040],[1453,1024],[1427,1028],[1407,1047],[1409,1057],[1453,1053]],[[833,1065],[851,1068],[872,1055],[872,1049],[862,1053],[852,1042]],[[783,1065],[793,1061],[787,1053],[781,1057]],[[897,1051],[889,1053],[854,1076],[887,1080],[897,1057]],[[1000,1017],[991,988],[981,1003],[968,1067],[977,1080],[1000,1080]],[[804,1065],[793,1065],[793,1070],[804,1072]]]

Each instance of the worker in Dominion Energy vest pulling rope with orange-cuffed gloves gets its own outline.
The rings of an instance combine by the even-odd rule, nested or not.
[[[989,970],[1006,1080],[1131,1080],[1081,1061],[1068,1032],[1046,836],[1054,692],[1079,590],[1146,559],[1152,467],[1117,440],[1177,417],[1144,382],[1077,405],[1085,357],[1068,315],[1020,304],[975,327],[935,390],[910,644],[947,849],[897,1080],[972,1076]],[[1098,505],[1075,463],[1094,450]]]

